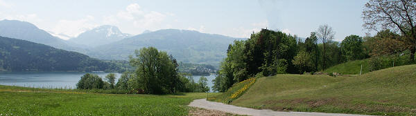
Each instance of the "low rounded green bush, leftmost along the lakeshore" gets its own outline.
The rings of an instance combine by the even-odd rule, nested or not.
[[[98,75],[87,73],[81,77],[80,81],[76,84],[78,89],[102,89],[104,88],[104,81]]]

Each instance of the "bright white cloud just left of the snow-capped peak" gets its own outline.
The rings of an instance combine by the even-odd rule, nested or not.
[[[53,28],[51,31],[58,35],[63,34],[70,37],[76,37],[80,33],[98,26],[97,24],[94,24],[94,22],[94,17],[89,15],[83,19],[77,20],[62,19],[58,21],[58,23],[55,25],[55,28]]]

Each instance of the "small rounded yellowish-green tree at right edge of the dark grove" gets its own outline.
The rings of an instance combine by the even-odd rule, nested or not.
[[[292,62],[301,73],[311,72],[311,69],[313,68],[311,55],[309,55],[308,52],[298,52],[297,55],[293,58]]]

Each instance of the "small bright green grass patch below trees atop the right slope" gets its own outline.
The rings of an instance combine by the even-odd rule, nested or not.
[[[324,70],[324,72],[332,73],[338,72],[343,75],[359,75],[361,70],[361,65],[363,65],[363,74],[370,72],[368,61],[370,59],[361,59],[355,61],[347,61],[343,64],[338,64]]]

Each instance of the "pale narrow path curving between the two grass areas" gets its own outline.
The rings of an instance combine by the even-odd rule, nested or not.
[[[339,113],[306,113],[306,112],[280,112],[274,110],[256,110],[252,108],[243,108],[239,106],[232,106],[228,104],[207,101],[206,99],[196,99],[191,102],[188,106],[205,108],[209,110],[220,110],[227,113],[239,114],[239,115],[281,115],[281,116],[363,116],[363,115],[349,115],[349,114],[339,114]]]

